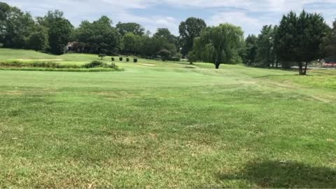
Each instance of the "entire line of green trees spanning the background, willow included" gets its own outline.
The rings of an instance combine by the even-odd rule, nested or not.
[[[65,48],[70,44],[70,48]],[[241,27],[222,24],[208,27],[200,18],[179,25],[179,36],[159,28],[155,34],[135,22],[118,22],[102,16],[78,27],[59,10],[34,18],[30,13],[0,2],[0,43],[4,48],[24,48],[61,55],[73,52],[139,55],[163,60],[189,59],[221,64],[290,68],[307,73],[309,62],[336,55],[336,22],[332,28],[322,15],[293,12],[283,15],[279,25],[265,25],[258,36],[244,38]]]

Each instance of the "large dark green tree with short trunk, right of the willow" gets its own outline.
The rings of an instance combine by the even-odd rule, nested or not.
[[[276,55],[283,62],[297,62],[299,74],[307,74],[309,62],[321,57],[321,44],[328,34],[328,25],[316,13],[283,15],[276,31]]]

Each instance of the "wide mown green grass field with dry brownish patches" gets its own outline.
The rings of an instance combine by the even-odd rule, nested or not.
[[[116,63],[0,70],[0,188],[336,187],[335,71]]]

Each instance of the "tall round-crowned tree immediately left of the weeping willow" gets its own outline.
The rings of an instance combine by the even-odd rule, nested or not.
[[[207,27],[204,20],[200,18],[188,18],[185,22],[181,22],[179,26],[179,43],[182,47],[182,54],[188,55],[193,49],[194,39],[200,36],[201,31]]]

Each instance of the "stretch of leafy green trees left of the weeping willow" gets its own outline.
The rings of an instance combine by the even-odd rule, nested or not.
[[[199,23],[200,27],[194,25]],[[159,28],[155,34],[135,22],[113,22],[107,16],[78,27],[59,10],[48,11],[34,18],[30,13],[0,2],[0,43],[4,48],[22,48],[62,55],[73,52],[115,55],[117,53],[143,57],[180,60],[193,47],[193,38],[206,27],[204,20],[190,18],[181,23],[182,37],[169,29]],[[69,45],[70,44],[70,45]],[[66,48],[66,47],[69,47]]]

